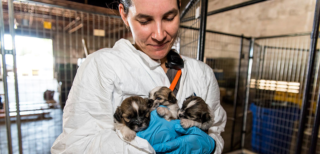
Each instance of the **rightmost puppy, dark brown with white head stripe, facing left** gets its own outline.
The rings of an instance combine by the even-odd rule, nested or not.
[[[214,122],[214,114],[201,97],[189,96],[183,101],[179,111],[180,124],[183,128],[196,126],[208,130]]]

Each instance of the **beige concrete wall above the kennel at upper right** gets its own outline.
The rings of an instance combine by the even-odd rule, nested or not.
[[[248,0],[209,0],[208,12]],[[316,0],[269,0],[208,16],[207,29],[272,36],[312,30]]]

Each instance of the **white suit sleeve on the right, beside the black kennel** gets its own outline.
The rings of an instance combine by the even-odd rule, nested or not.
[[[215,154],[221,154],[224,147],[224,140],[221,137],[221,132],[224,132],[224,128],[227,122],[227,113],[220,104],[220,89],[216,77],[212,69],[204,64],[204,89],[203,99],[211,107],[214,114],[214,124],[209,128],[209,135],[216,141]]]

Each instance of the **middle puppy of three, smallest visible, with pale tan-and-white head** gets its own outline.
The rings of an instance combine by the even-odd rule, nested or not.
[[[163,105],[165,107],[157,107],[157,113],[163,116],[164,119],[170,121],[171,119],[178,119],[178,100],[174,96],[171,89],[165,86],[159,86],[152,89],[149,93],[149,98],[154,100],[153,106]]]

